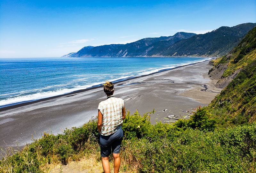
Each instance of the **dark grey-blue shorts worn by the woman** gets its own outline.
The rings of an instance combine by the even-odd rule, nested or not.
[[[100,135],[100,156],[108,157],[111,154],[111,151],[114,154],[120,153],[123,137],[124,134],[122,128],[108,136]]]

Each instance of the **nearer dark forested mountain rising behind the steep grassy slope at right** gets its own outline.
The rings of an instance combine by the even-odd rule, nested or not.
[[[255,23],[222,26],[206,34],[181,40],[163,50],[162,56],[223,56],[233,49]]]

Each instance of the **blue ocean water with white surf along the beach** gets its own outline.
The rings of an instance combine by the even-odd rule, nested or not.
[[[47,98],[164,69],[205,57],[0,58],[0,107]]]

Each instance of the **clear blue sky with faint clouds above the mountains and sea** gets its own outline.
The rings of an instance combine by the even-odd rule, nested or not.
[[[256,22],[255,0],[0,0],[0,57],[60,57],[84,46]]]

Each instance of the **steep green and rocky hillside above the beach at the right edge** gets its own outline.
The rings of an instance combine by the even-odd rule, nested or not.
[[[209,108],[218,110],[215,114],[222,123],[256,121],[256,27],[231,52],[211,63],[214,67],[209,75],[219,78],[218,86],[226,87]]]

